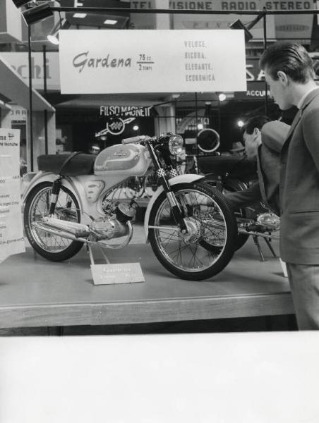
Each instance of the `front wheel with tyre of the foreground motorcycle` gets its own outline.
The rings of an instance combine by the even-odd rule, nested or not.
[[[217,275],[234,254],[237,225],[220,192],[205,183],[172,188],[187,233],[181,233],[162,192],[150,212],[149,238],[159,262],[179,278],[202,281]]]

